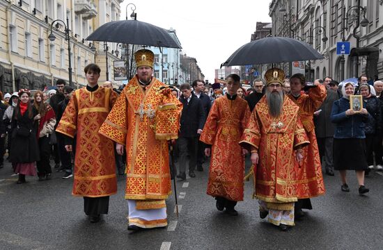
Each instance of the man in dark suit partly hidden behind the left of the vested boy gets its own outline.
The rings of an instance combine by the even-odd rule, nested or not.
[[[196,97],[198,97],[198,99],[201,100],[203,110],[205,111],[205,121],[203,121],[203,122],[206,122],[206,117],[208,117],[210,108],[212,106],[212,101],[211,101],[210,97],[203,92],[203,90],[205,89],[205,83],[202,80],[194,80],[192,85],[193,85],[193,94]],[[199,135],[198,135],[198,137],[199,137]],[[206,147],[205,144],[203,142],[201,142],[200,140],[198,140],[196,165],[197,165],[197,171],[200,171],[200,172],[203,171],[202,164],[204,161],[203,157],[205,155],[205,153],[204,153],[205,147]]]

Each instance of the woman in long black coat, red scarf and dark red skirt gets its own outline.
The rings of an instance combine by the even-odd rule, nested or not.
[[[30,96],[29,90],[19,90],[20,100],[15,107],[11,122],[13,132],[10,161],[15,167],[15,173],[19,174],[17,184],[26,183],[26,175],[36,176],[35,163],[40,160],[36,137],[40,114],[34,112]]]

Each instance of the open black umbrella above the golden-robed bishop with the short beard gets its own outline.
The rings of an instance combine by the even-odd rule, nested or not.
[[[107,22],[86,40],[182,49],[164,28],[137,20]]]

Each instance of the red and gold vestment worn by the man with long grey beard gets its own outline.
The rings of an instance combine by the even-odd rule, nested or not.
[[[290,210],[292,202],[297,201],[299,164],[294,149],[309,143],[298,110],[295,103],[285,98],[281,116],[274,118],[269,115],[263,97],[256,104],[240,142],[242,146],[251,145],[258,151],[254,181],[256,197],[266,201],[271,209]]]

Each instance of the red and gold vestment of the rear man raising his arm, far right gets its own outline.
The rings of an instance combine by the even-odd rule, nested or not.
[[[299,119],[302,121],[310,144],[304,148],[304,160],[297,171],[298,198],[305,199],[325,194],[322,167],[318,150],[318,142],[315,136],[313,113],[320,108],[326,98],[326,88],[318,85],[311,88],[308,94],[302,93],[297,99],[288,94],[288,97],[299,106]]]

